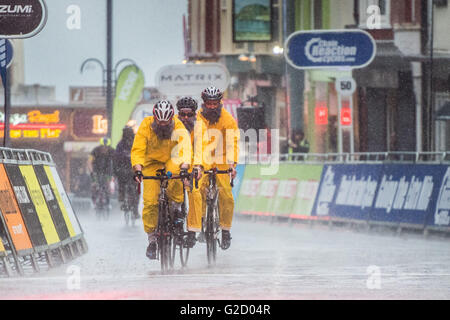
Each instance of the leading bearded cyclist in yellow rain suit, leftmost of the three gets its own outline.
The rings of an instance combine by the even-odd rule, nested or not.
[[[154,176],[158,169],[165,168],[174,175],[180,169],[188,169],[192,156],[190,136],[183,123],[174,119],[175,110],[166,100],[159,101],[153,108],[153,116],[145,118],[139,126],[131,148],[131,165],[135,180],[142,182],[142,176]],[[144,180],[144,209],[142,220],[148,234],[149,245],[146,255],[157,258],[155,229],[158,223],[158,196],[160,182]],[[181,215],[183,185],[180,180],[169,180],[167,195],[169,207],[175,216]]]

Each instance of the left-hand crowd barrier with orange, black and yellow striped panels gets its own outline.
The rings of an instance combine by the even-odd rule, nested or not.
[[[0,256],[8,276],[87,252],[83,230],[49,153],[0,148]]]

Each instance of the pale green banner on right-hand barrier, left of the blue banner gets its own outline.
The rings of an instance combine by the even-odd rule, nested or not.
[[[311,215],[322,165],[280,164],[276,176],[246,165],[236,210],[242,214],[305,218]]]

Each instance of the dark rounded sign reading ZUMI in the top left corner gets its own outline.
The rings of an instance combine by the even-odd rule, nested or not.
[[[44,0],[0,0],[0,38],[30,38],[47,22]]]

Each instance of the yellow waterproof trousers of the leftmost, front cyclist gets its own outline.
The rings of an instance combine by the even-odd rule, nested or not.
[[[173,175],[180,173],[180,168],[171,160],[166,163],[154,163],[144,167],[142,174],[144,176],[155,176],[156,170],[166,169],[171,171]],[[159,180],[144,180],[144,209],[142,210],[142,221],[144,223],[144,231],[146,233],[153,232],[158,224],[158,198],[160,194]],[[169,180],[167,187],[167,196],[169,200],[174,202],[183,202],[183,184],[181,180]]]

